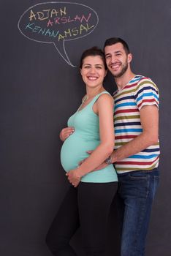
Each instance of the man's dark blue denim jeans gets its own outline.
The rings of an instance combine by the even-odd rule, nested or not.
[[[144,256],[151,206],[159,184],[159,170],[118,175],[121,217],[121,256]]]

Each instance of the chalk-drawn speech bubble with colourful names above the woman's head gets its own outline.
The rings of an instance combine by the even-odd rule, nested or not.
[[[36,42],[53,43],[67,64],[75,67],[65,50],[65,41],[86,37],[96,28],[98,15],[84,4],[51,1],[35,4],[18,20],[21,34]]]

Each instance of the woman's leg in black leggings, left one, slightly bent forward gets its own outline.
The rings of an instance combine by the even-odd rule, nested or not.
[[[76,256],[69,241],[80,226],[77,188],[70,187],[47,233],[46,243],[55,256]]]

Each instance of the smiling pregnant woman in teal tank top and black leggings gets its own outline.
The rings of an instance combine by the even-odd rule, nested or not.
[[[86,96],[60,134],[64,141],[61,164],[71,186],[47,233],[47,246],[56,256],[77,255],[69,241],[78,227],[86,255],[105,255],[107,217],[118,187],[113,165],[94,171],[114,147],[113,97],[103,87],[106,73],[102,50],[85,50],[80,74],[86,84]],[[89,156],[90,149],[94,151]]]

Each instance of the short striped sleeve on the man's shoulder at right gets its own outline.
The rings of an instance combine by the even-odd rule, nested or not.
[[[137,83],[134,99],[139,110],[145,105],[156,105],[159,108],[159,89],[150,78],[142,78]]]

